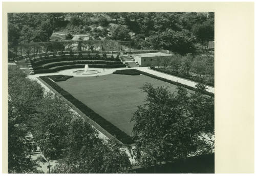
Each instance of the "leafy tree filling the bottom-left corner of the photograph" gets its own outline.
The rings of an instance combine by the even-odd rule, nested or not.
[[[8,172],[38,173],[39,164],[30,157],[32,141],[28,138],[28,127],[20,116],[8,100]]]

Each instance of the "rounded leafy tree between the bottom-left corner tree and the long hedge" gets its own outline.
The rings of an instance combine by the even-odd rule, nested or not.
[[[67,147],[67,130],[73,115],[58,97],[48,93],[40,101],[33,120],[33,136],[47,160],[60,159]]]

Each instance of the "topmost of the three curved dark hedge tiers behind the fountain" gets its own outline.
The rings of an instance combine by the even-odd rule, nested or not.
[[[63,58],[53,58],[53,59],[45,59],[45,60],[38,60],[38,61],[31,61],[31,65],[33,67],[41,66],[43,64],[48,64],[51,62],[61,62],[61,61],[78,61],[78,60],[101,60],[101,61],[120,61],[118,59],[111,59],[111,58],[95,58],[95,57],[63,57]]]

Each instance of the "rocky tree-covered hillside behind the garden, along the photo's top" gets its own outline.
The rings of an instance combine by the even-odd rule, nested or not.
[[[8,14],[10,45],[65,39],[65,35],[58,38],[53,33],[126,40],[134,49],[201,54],[208,41],[214,40],[214,12]]]

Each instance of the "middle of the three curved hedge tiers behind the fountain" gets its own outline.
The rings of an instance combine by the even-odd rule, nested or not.
[[[52,67],[57,67],[57,66],[63,66],[63,65],[79,65],[79,64],[103,64],[103,65],[120,65],[123,64],[120,61],[93,61],[93,60],[88,60],[88,61],[61,61],[61,62],[53,62],[53,63],[48,63],[45,65],[41,66],[34,66],[33,70],[42,70],[42,69],[49,69]]]

